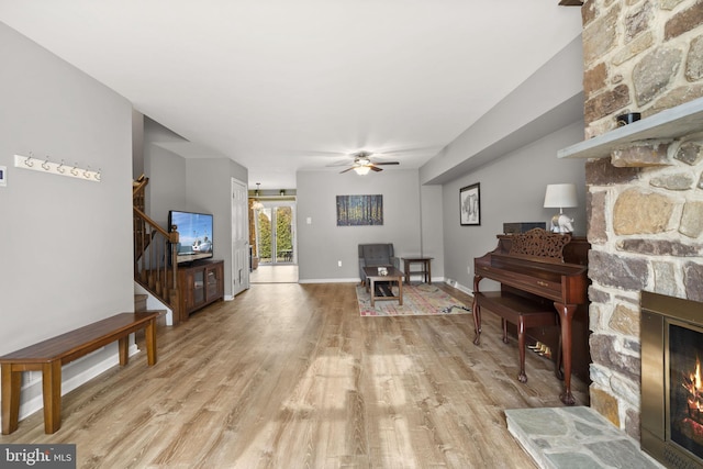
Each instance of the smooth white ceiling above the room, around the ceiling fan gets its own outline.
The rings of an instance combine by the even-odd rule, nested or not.
[[[279,189],[361,149],[422,166],[580,34],[557,3],[0,0],[0,21],[192,143],[174,152]]]

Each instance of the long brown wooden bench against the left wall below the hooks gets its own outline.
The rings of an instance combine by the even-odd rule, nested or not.
[[[130,334],[145,330],[149,366],[156,364],[156,319],[164,311],[120,313],[85,327],[0,357],[2,372],[2,434],[18,429],[23,371],[42,371],[44,431],[62,426],[62,366],[119,340],[120,365],[129,361]]]

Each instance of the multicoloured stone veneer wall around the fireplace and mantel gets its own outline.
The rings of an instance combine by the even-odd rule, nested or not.
[[[703,0],[587,0],[585,138],[703,97]],[[703,129],[587,163],[591,406],[639,438],[639,291],[703,301]]]

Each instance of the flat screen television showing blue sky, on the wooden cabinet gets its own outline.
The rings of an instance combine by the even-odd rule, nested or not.
[[[212,215],[208,213],[168,212],[168,231],[178,231],[177,263],[187,264],[212,257]]]

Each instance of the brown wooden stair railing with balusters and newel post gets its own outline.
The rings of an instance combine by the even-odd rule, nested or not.
[[[174,325],[180,322],[178,232],[167,232],[144,213],[148,178],[142,175],[132,186],[134,220],[134,281],[174,312]]]

